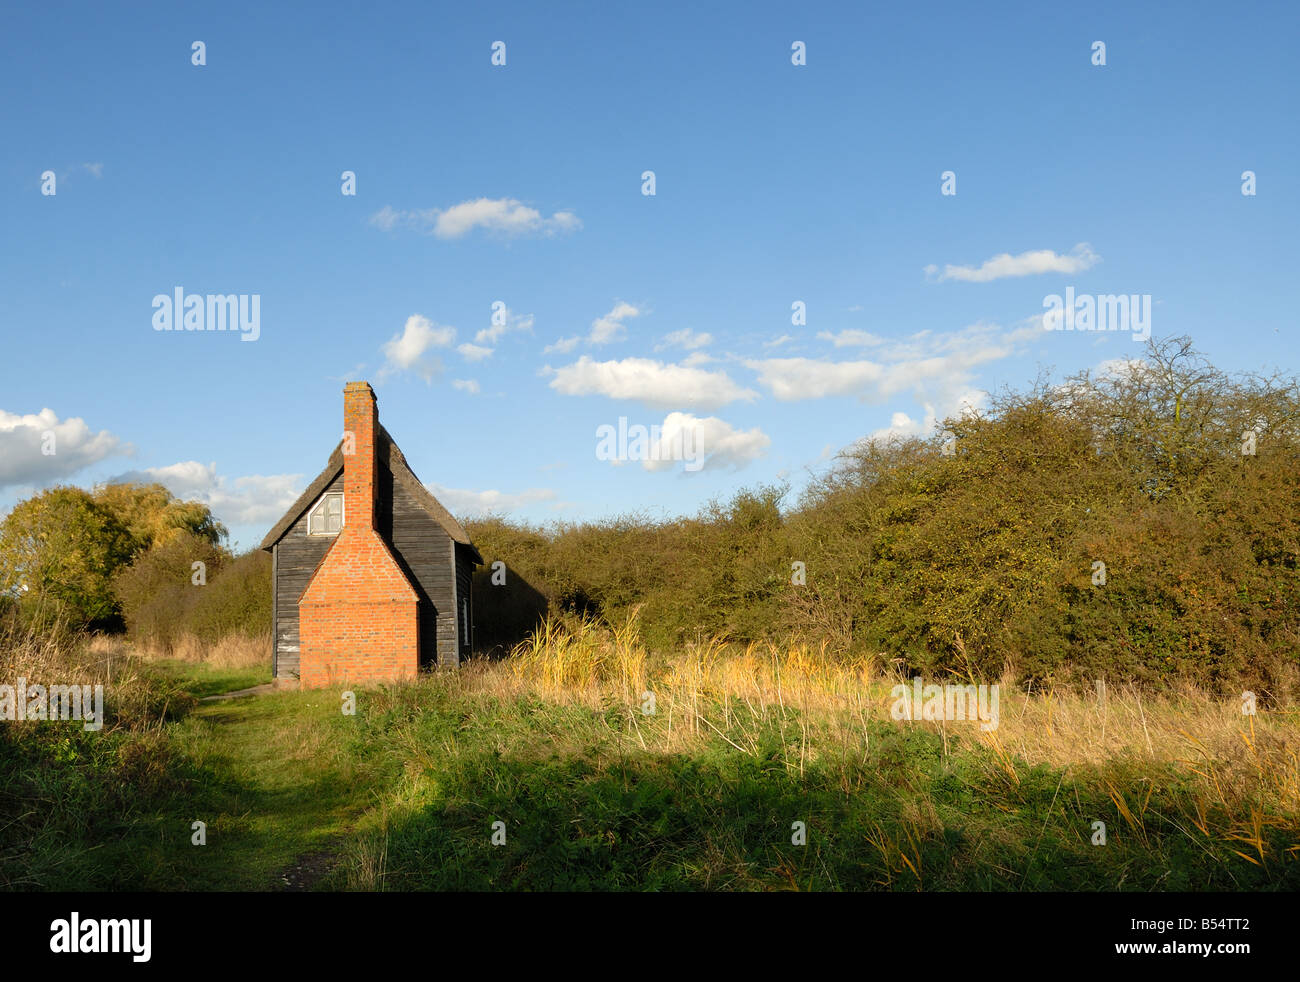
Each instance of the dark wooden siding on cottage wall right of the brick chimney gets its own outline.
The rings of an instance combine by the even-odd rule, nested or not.
[[[380,501],[378,532],[420,594],[420,665],[456,665],[455,542],[386,467],[380,468]]]

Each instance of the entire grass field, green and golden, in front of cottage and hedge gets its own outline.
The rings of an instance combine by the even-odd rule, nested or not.
[[[266,682],[252,653],[81,657],[103,732],[0,727],[0,887],[1300,887],[1296,711],[1193,689],[1008,685],[985,731],[896,722],[871,661],[552,626],[348,715],[341,689],[198,701]]]

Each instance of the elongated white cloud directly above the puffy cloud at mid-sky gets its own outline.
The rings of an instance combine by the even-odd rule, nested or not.
[[[758,395],[751,389],[736,385],[725,372],[664,364],[649,358],[594,362],[582,355],[573,364],[554,372],[550,386],[564,395],[637,399],[659,408],[690,406],[708,410]]]

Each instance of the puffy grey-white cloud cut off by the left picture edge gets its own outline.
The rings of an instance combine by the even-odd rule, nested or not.
[[[130,451],[107,429],[94,433],[77,416],[60,420],[49,408],[23,416],[0,410],[0,488],[43,486]]]

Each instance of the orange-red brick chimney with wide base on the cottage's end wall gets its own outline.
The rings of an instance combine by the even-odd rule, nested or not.
[[[343,529],[298,602],[303,688],[413,678],[419,598],[374,528],[378,407],[368,382],[343,388]]]

